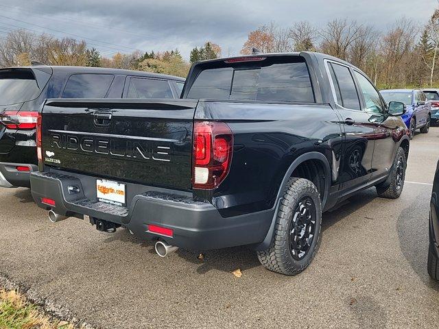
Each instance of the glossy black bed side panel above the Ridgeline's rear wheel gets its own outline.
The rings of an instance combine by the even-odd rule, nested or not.
[[[288,167],[310,151],[336,167],[331,185],[337,185],[342,127],[329,105],[200,101],[195,119],[224,121],[233,131],[230,172],[211,195],[222,215],[272,208]]]

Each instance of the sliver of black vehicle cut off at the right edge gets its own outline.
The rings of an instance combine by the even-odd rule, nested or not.
[[[429,237],[428,273],[432,279],[439,281],[439,162],[431,192]]]

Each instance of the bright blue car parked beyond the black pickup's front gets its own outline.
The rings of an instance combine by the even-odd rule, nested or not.
[[[416,129],[426,134],[430,129],[431,105],[427,102],[427,96],[418,89],[386,89],[380,91],[383,99],[401,101],[405,104],[406,112],[401,116],[405,125],[410,129],[410,139],[413,138]]]

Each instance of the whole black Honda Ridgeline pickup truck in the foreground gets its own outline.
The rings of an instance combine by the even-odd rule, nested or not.
[[[182,99],[49,99],[32,195],[51,221],[156,240],[160,256],[251,245],[294,275],[322,211],[376,186],[399,197],[409,132],[359,69],[321,53],[193,64]]]

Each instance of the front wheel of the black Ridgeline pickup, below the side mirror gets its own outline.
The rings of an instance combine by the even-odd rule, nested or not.
[[[406,163],[407,160],[405,159],[404,149],[398,147],[389,175],[390,184],[386,181],[377,185],[377,193],[379,197],[396,199],[401,195],[404,187]]]

